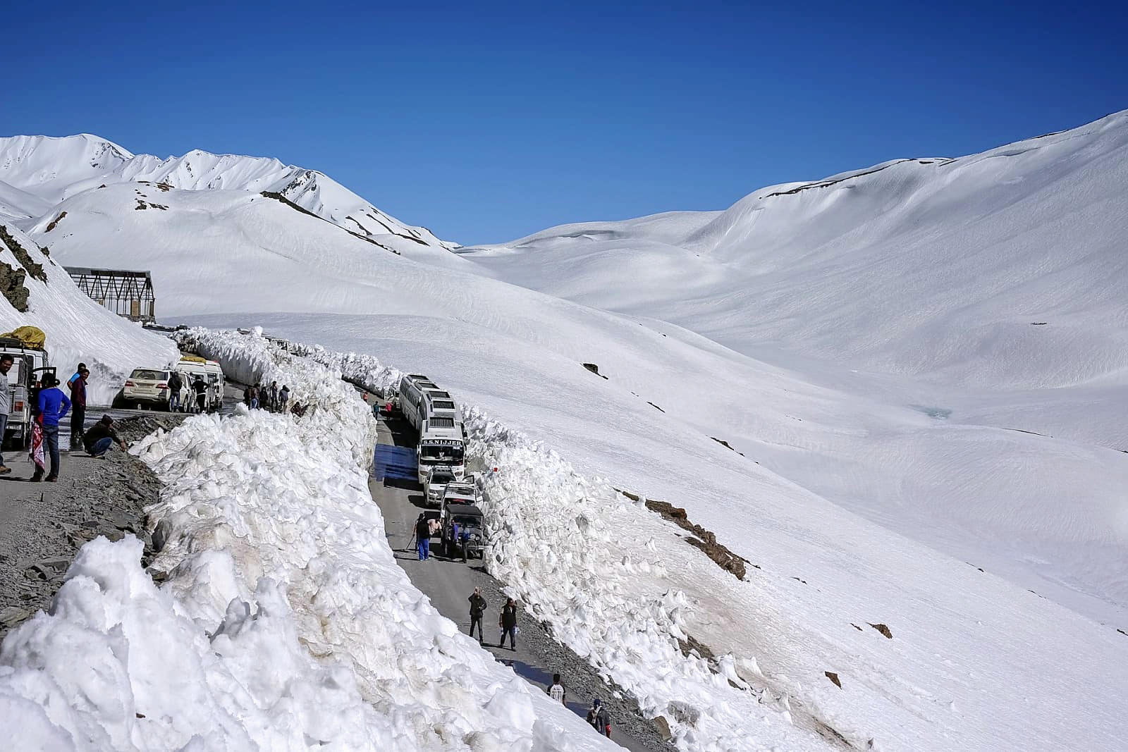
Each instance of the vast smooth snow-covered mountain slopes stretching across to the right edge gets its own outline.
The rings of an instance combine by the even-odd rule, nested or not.
[[[616,613],[600,584],[684,593],[680,628],[854,746],[1113,749],[1128,733],[1126,144],[1120,113],[723,212],[458,254],[372,253],[247,176],[99,188],[59,165],[86,187],[19,224],[61,263],[150,268],[169,319],[262,324],[425,372],[486,412],[479,427],[558,452],[499,453],[530,477],[566,462],[684,506],[756,565],[746,581],[696,567],[633,507],[599,507],[593,486],[553,486],[561,472],[538,498],[619,531],[622,564],[548,551],[521,586],[590,557],[603,570],[570,585],[588,614]],[[580,614],[559,634],[594,628]],[[622,638],[617,681],[669,691],[633,623],[599,628]],[[740,731],[719,744],[741,749]]]

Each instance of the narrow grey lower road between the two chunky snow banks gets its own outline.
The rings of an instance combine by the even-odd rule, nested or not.
[[[380,444],[414,446],[415,434],[403,421],[380,421]],[[483,622],[486,627],[484,649],[513,667],[517,674],[534,685],[534,691],[545,691],[552,683],[553,673],[563,676],[567,688],[567,706],[583,716],[593,697],[608,706],[611,713],[611,737],[632,752],[666,751],[673,747],[662,741],[658,728],[638,713],[637,706],[618,688],[601,681],[598,674],[578,655],[556,643],[539,623],[523,610],[519,612],[517,649],[497,647],[497,614],[505,602],[501,584],[486,574],[482,561],[472,559],[444,559],[432,549],[431,558],[420,561],[413,542],[415,521],[423,511],[423,494],[416,484],[399,480],[369,480],[372,498],[384,514],[388,542],[395,551],[399,566],[404,568],[432,605],[448,619],[469,629],[469,604],[467,599],[475,587],[490,604]],[[433,540],[438,543],[439,539]],[[596,733],[592,731],[592,733]]]

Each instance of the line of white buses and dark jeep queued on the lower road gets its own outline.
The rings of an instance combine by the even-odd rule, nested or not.
[[[449,391],[422,373],[399,380],[393,409],[418,433],[415,458],[428,510],[439,521],[440,552],[466,561],[482,557],[486,534],[477,478],[466,471],[466,428]]]

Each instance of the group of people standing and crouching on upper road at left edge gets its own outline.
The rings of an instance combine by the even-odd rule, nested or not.
[[[8,414],[11,412],[8,392],[8,372],[15,363],[15,357],[8,354],[0,355],[0,435],[7,427]],[[83,446],[91,457],[104,455],[109,448],[117,442],[125,449],[122,441],[113,428],[114,419],[108,415],[102,416],[89,431],[86,430],[86,386],[90,378],[90,370],[86,363],[79,363],[74,369],[74,374],[67,380],[68,397],[53,373],[44,373],[35,384],[37,397],[32,400],[32,442],[28,452],[35,470],[30,480],[38,483],[46,479],[49,483],[59,480],[60,457],[59,457],[59,424],[67,417],[71,417],[71,450]],[[47,461],[50,460],[50,471]],[[0,475],[11,472],[0,454]],[[44,474],[46,472],[46,478]]]

